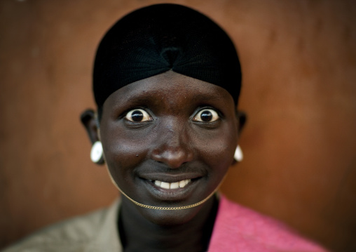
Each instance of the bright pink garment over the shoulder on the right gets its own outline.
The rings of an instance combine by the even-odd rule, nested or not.
[[[221,197],[209,252],[326,252],[285,225]]]

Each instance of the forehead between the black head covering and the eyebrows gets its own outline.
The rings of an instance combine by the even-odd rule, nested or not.
[[[234,107],[233,98],[226,89],[169,71],[118,89],[109,95],[104,108],[148,103],[179,107],[191,103]]]

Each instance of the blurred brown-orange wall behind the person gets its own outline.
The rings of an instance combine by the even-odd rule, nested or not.
[[[107,28],[144,0],[0,3],[0,246],[109,204],[78,115]],[[245,160],[223,191],[336,251],[356,251],[356,4],[168,1],[207,13],[238,46]]]

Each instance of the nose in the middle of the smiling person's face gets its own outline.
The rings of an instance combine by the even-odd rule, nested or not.
[[[153,148],[152,159],[166,164],[170,168],[179,168],[182,164],[193,159],[193,152],[189,143],[188,129],[171,121],[157,136]]]

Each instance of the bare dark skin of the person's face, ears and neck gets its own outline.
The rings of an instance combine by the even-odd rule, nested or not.
[[[245,114],[224,89],[172,71],[129,84],[104,102],[100,130],[93,112],[82,121],[101,140],[109,172],[123,192],[149,206],[178,207],[218,187],[238,145]],[[189,181],[183,187],[163,184]],[[162,187],[161,187],[162,185]],[[206,251],[217,199],[184,210],[142,208],[123,197],[124,251]]]

